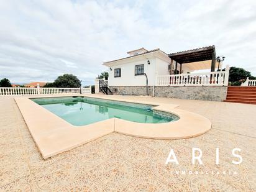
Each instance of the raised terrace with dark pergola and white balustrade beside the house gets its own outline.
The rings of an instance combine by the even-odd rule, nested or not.
[[[196,48],[169,54],[171,63],[170,75],[157,75],[157,86],[227,86],[229,66],[225,71],[222,62],[216,62],[214,46]],[[198,70],[209,72],[194,73]]]

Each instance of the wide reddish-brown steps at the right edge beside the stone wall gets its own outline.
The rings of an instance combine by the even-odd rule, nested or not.
[[[228,86],[225,102],[256,104],[256,86]]]

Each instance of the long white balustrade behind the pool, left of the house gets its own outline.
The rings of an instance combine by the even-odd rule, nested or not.
[[[82,88],[83,94],[91,93],[91,86]],[[0,96],[35,95],[35,94],[80,94],[80,88],[1,88]]]

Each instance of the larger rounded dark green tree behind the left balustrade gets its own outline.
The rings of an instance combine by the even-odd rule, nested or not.
[[[57,80],[54,81],[54,85],[57,88],[80,88],[81,82],[75,75],[64,74],[58,76]]]

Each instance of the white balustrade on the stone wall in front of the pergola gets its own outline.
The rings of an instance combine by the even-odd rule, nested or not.
[[[177,75],[157,75],[157,86],[227,86],[229,68],[225,71],[208,73],[187,73]]]

